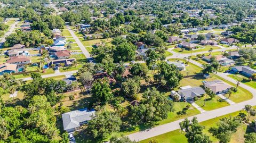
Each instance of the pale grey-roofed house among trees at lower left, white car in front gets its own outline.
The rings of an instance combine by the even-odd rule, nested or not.
[[[87,123],[95,115],[95,111],[75,110],[62,114],[63,130],[74,132],[81,125]]]

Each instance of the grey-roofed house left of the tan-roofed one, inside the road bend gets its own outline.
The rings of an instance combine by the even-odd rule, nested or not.
[[[181,89],[178,91],[179,95],[182,99],[190,102],[193,101],[194,98],[202,97],[205,94],[205,91],[201,87],[188,87],[185,89]]]

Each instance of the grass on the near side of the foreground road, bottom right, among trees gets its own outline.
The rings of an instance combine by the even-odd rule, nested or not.
[[[244,112],[244,111],[238,111],[238,112],[230,113],[230,114],[223,115],[223,116],[220,116],[220,117],[215,117],[214,119],[207,120],[207,121],[201,122],[199,124],[201,124],[205,127],[203,132],[206,133],[207,135],[209,135],[210,139],[214,143],[217,143],[218,140],[216,138],[212,137],[211,134],[208,132],[209,128],[214,127],[216,125],[216,123],[219,122],[220,119],[222,119],[224,117],[237,116],[240,112]],[[250,118],[251,121],[253,119],[255,119],[255,117]],[[251,127],[247,126],[246,124],[242,124],[240,127],[238,127],[236,133],[234,133],[232,135],[230,143],[244,142],[243,135],[245,133],[250,133],[250,132],[253,132],[253,129]],[[142,141],[140,141],[140,143],[148,143],[152,139],[155,139],[155,140],[157,140],[158,142],[161,142],[161,143],[172,143],[172,142],[187,143],[188,142],[187,138],[185,137],[185,132],[183,132],[179,129],[179,130],[174,130],[174,131],[171,131],[171,132],[161,134],[161,135],[153,137],[153,138],[142,140]]]

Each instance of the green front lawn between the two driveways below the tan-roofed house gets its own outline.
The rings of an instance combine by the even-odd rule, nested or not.
[[[229,106],[229,103],[227,103],[225,100],[219,100],[221,98],[218,96],[212,99],[210,98],[209,95],[205,95],[205,96],[206,96],[205,106],[203,106],[205,97],[202,97],[195,102],[199,107],[202,107],[203,110],[205,111],[211,111],[217,108]]]

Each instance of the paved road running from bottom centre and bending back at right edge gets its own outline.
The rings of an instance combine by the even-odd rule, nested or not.
[[[228,49],[230,49],[230,48],[228,48]],[[221,50],[223,51],[223,49],[221,49]],[[178,58],[183,58],[183,57],[186,56],[186,55],[181,55],[181,54],[175,53],[173,51],[171,53],[173,53],[173,55],[169,56],[169,58],[177,58],[177,57]],[[190,60],[190,62],[197,65],[197,66],[202,66],[202,64],[199,64],[194,60]],[[226,80],[230,81],[230,82],[236,83],[236,80],[227,77],[226,74],[218,72],[217,75],[220,76],[223,79],[226,79]],[[239,86],[248,90],[248,91],[250,91],[253,95],[253,98],[250,99],[250,100],[247,100],[245,102],[236,103],[236,104],[229,105],[229,106],[226,106],[226,107],[218,108],[217,110],[206,111],[204,113],[195,115],[197,117],[197,120],[199,122],[203,122],[203,121],[206,121],[206,120],[213,119],[217,116],[222,116],[222,115],[226,115],[226,114],[233,113],[233,112],[236,112],[236,111],[240,111],[244,108],[245,105],[255,106],[256,105],[256,89],[251,88],[249,86],[246,86],[243,83],[241,83]],[[190,116],[190,117],[188,117],[188,119],[191,120],[193,117],[194,116]],[[181,119],[181,120],[174,121],[174,122],[171,122],[171,123],[159,125],[157,127],[154,127],[154,128],[151,128],[151,129],[148,129],[148,130],[145,130],[145,131],[132,133],[132,134],[129,134],[127,137],[129,137],[131,140],[135,140],[135,141],[140,141],[140,140],[145,140],[145,139],[148,139],[148,138],[151,138],[151,137],[155,137],[155,136],[158,136],[160,134],[164,134],[164,133],[167,133],[167,132],[170,132],[170,131],[180,129],[179,123],[183,120],[184,119]]]

